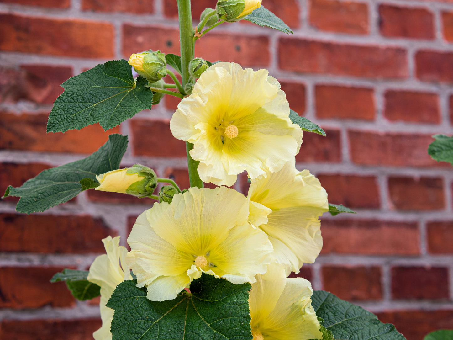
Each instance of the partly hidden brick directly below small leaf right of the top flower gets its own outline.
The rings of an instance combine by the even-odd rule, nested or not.
[[[341,162],[340,131],[324,129],[326,136],[304,132],[302,146],[296,155],[296,162]]]

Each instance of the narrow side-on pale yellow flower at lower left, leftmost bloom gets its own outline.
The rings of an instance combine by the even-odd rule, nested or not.
[[[120,237],[108,236],[102,240],[106,254],[96,257],[90,266],[87,280],[101,287],[101,319],[102,327],[93,333],[95,340],[111,340],[110,326],[114,310],[106,304],[113,294],[116,286],[124,280],[132,280],[129,267],[125,262],[127,249],[119,246]]]

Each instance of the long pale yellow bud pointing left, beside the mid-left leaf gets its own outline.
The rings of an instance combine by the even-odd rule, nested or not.
[[[157,186],[154,170],[140,164],[106,172],[96,176],[96,180],[101,185],[95,190],[130,194],[136,197],[151,196]]]

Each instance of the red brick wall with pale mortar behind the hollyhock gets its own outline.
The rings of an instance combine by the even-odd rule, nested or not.
[[[193,1],[195,17],[215,2]],[[263,5],[294,35],[224,24],[196,52],[268,68],[290,106],[327,132],[304,134],[297,167],[319,177],[329,201],[358,214],[323,218],[324,248],[304,277],[410,340],[452,329],[453,168],[431,160],[427,147],[431,135],[453,134],[453,1]],[[2,193],[95,151],[112,132],[129,135],[123,165],[140,162],[188,186],[184,143],[168,126],[174,100],[107,133],[45,134],[68,77],[149,48],[178,53],[176,15],[176,0],[0,0]],[[240,178],[236,189],[246,190]],[[87,268],[108,234],[124,243],[149,202],[90,191],[30,216],[15,213],[15,202],[0,202],[0,338],[90,339],[100,323],[96,302],[76,303],[48,279],[62,267]]]

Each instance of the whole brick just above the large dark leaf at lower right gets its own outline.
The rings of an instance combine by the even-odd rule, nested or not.
[[[348,301],[381,300],[381,267],[324,266],[323,289]]]

